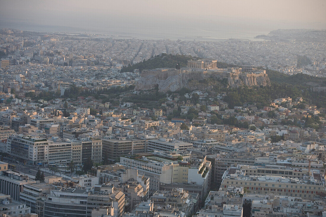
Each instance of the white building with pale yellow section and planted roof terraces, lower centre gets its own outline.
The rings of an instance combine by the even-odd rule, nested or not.
[[[192,158],[189,162],[159,162],[154,156],[147,155],[137,157],[121,157],[119,165],[126,168],[138,169],[138,173],[150,178],[149,190],[150,194],[160,190],[160,184],[165,184],[166,189],[178,188],[178,184],[184,189],[197,186],[203,190],[199,192],[199,196],[205,194],[210,186],[211,162],[203,159]],[[171,184],[171,185],[169,185]],[[197,191],[197,190],[195,190]]]

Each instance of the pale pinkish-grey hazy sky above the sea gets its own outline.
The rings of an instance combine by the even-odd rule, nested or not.
[[[79,28],[326,29],[325,11],[324,0],[0,0],[0,21]]]

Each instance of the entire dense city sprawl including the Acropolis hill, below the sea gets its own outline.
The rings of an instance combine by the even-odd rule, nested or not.
[[[0,29],[0,216],[326,217],[326,30]]]

